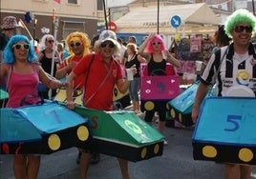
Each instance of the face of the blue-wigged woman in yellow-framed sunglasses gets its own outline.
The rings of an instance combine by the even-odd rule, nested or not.
[[[18,42],[12,46],[13,54],[16,60],[27,59],[29,55],[30,45],[26,42]]]

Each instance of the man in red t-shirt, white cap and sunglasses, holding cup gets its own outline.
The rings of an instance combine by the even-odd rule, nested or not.
[[[130,82],[123,79],[122,69],[114,59],[114,54],[118,52],[116,33],[112,30],[103,30],[96,41],[96,53],[86,55],[75,66],[75,69],[68,76],[67,82],[73,84],[76,76],[81,73],[88,74],[85,83],[83,105],[90,109],[113,110],[113,89],[124,93]],[[91,63],[91,67],[89,69]],[[136,69],[134,69],[136,72]],[[74,109],[75,103],[72,100],[73,88],[67,89],[67,108]],[[83,150],[80,160],[80,178],[86,178],[87,171],[92,158],[92,153]],[[128,162],[118,158],[118,163],[123,179],[129,179]]]

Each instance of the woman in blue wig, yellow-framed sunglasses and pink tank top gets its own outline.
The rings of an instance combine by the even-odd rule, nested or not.
[[[66,83],[50,78],[37,61],[33,45],[24,35],[13,35],[3,51],[4,63],[0,66],[0,77],[7,79],[9,92],[8,108],[24,106],[22,101],[29,96],[32,104],[41,101],[38,96],[39,80],[50,89],[65,87]],[[37,97],[36,97],[37,96]],[[40,166],[40,155],[14,154],[15,178],[36,178]]]

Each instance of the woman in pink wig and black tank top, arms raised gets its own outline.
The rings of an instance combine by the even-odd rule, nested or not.
[[[181,68],[179,60],[174,58],[171,53],[166,50],[164,41],[159,34],[151,33],[139,46],[139,54],[146,59],[148,75],[165,75],[162,74],[161,71],[165,71],[167,62],[173,64],[174,67]],[[154,71],[156,71],[156,73],[153,74]],[[160,116],[159,131],[162,133],[166,121],[166,101],[158,100],[154,101],[154,103],[156,108],[146,110],[145,121],[151,123],[155,111],[157,111]],[[167,144],[168,142],[164,140],[164,145]]]

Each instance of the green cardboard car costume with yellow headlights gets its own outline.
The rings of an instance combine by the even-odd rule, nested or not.
[[[88,148],[93,151],[133,162],[162,154],[164,137],[134,112],[107,112],[83,107],[74,111],[91,121],[93,138]]]

